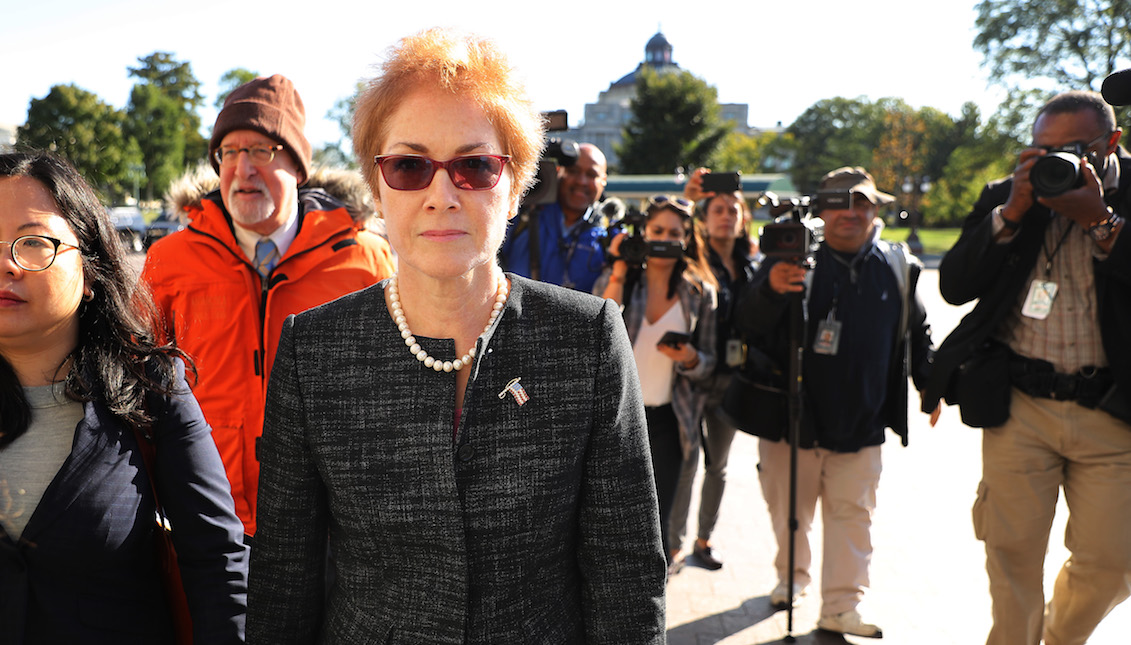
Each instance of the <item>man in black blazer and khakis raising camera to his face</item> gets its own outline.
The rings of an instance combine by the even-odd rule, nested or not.
[[[993,600],[988,645],[1083,643],[1131,593],[1131,157],[1103,98],[1042,108],[1013,174],[986,186],[939,269],[977,306],[935,355],[924,399],[984,428],[975,534]],[[1060,489],[1064,564],[1045,605]]]

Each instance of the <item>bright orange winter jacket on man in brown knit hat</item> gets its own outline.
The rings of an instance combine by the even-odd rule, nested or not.
[[[143,269],[167,339],[196,361],[193,394],[249,535],[259,488],[256,441],[283,321],[394,272],[385,239],[356,225],[338,201],[317,189],[300,190],[299,200],[299,233],[266,281],[236,243],[219,192],[188,206],[189,226],[156,242]]]

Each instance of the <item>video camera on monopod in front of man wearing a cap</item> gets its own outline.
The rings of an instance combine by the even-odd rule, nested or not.
[[[848,198],[847,192],[822,192],[818,195],[818,204],[822,207],[840,207],[841,200],[847,204]],[[805,195],[783,201],[777,195],[766,191],[758,198],[758,205],[769,205],[774,215],[788,210],[771,224],[762,226],[758,233],[758,248],[762,253],[767,258],[812,267],[813,253],[824,239],[823,222],[812,215],[812,198]]]

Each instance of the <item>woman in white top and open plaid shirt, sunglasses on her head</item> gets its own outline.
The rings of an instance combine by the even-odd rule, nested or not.
[[[668,518],[681,464],[699,445],[707,401],[700,384],[714,373],[716,361],[716,283],[702,256],[692,208],[682,197],[650,198],[633,235],[618,233],[608,244],[612,263],[594,285],[594,293],[621,306],[632,342],[664,553],[673,574],[679,560],[670,543]]]

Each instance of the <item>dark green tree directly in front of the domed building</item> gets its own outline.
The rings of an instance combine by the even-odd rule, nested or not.
[[[731,130],[719,118],[714,87],[689,71],[657,74],[645,67],[636,92],[632,117],[616,146],[621,172],[662,174],[710,163]]]

